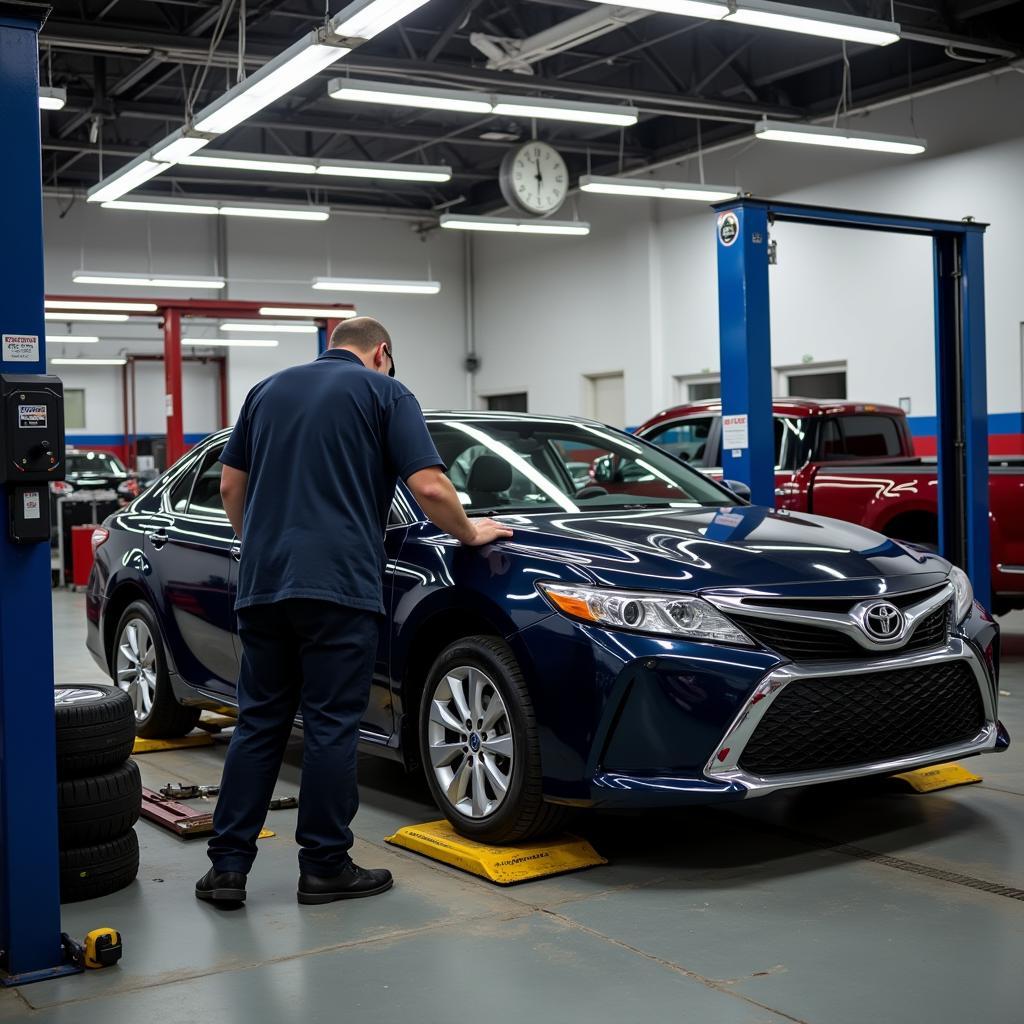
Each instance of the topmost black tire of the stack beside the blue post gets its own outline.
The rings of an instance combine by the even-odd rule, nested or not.
[[[131,697],[115,686],[55,686],[57,778],[80,778],[124,764],[135,742]]]

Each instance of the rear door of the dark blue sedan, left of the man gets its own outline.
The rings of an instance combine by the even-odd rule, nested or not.
[[[220,501],[223,441],[208,445],[165,498],[146,553],[163,597],[164,629],[178,672],[194,686],[234,693],[234,530]]]

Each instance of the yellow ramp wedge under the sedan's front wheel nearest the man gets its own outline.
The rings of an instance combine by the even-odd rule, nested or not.
[[[500,886],[607,863],[590,843],[577,836],[556,836],[521,846],[487,846],[460,836],[447,821],[406,825],[388,836],[385,842],[478,874]]]

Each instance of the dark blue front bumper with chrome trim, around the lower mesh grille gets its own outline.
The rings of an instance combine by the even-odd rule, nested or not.
[[[978,612],[963,629],[964,636],[950,636],[931,650],[798,665],[765,650],[612,633],[561,616],[546,620],[513,643],[535,676],[545,798],[608,808],[716,803],[1005,750],[1010,737],[996,717],[997,631]],[[903,757],[770,776],[739,764],[787,686],[948,663],[969,667],[981,697],[983,721],[968,739]]]

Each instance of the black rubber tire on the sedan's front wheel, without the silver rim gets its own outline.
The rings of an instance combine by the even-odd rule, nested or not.
[[[445,676],[462,668],[481,670],[488,677],[505,703],[512,737],[513,757],[507,792],[497,809],[481,817],[472,817],[456,808],[437,780],[430,759],[428,726],[435,692]],[[497,637],[474,636],[458,640],[434,662],[420,702],[420,753],[434,801],[455,828],[468,839],[499,844],[523,842],[555,831],[564,821],[565,808],[544,800],[541,744],[525,680],[515,655]]]

